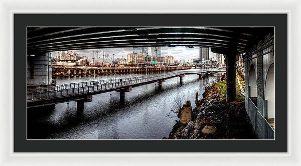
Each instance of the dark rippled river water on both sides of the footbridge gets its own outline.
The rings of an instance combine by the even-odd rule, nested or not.
[[[199,70],[199,69],[191,69]],[[116,75],[116,78],[140,76]],[[214,79],[209,76],[204,79]],[[73,82],[114,78],[114,75],[57,78],[57,85]],[[120,104],[119,92],[93,95],[93,101],[77,111],[76,102],[59,103],[51,108],[28,109],[28,139],[162,139],[168,137],[177,116],[177,96],[191,101],[195,107],[195,93],[202,98],[204,87],[198,75],[185,75],[168,79],[162,90],[156,83],[132,88],[125,92],[125,102]],[[183,99],[184,99],[183,98]]]

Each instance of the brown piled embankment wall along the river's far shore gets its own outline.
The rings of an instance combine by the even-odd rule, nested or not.
[[[52,66],[53,76],[88,76],[105,74],[130,74],[130,73],[159,73],[175,70],[191,69],[191,66],[166,66],[166,67],[84,67],[84,66]]]

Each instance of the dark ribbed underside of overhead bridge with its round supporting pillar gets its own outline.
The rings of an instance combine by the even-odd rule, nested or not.
[[[269,27],[29,27],[27,55],[123,47],[210,47],[226,57],[227,101],[234,101],[237,55],[273,32]]]

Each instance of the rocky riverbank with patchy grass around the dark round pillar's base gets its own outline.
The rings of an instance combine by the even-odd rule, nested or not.
[[[257,139],[236,85],[234,102],[226,102],[225,80],[206,87],[203,99],[196,101],[192,120],[188,124],[177,121],[168,139]]]

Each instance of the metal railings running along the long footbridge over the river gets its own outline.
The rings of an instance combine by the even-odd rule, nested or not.
[[[212,71],[212,70],[210,70]],[[210,72],[208,70],[202,72]],[[216,71],[216,70],[214,70]],[[28,100],[35,99],[45,99],[52,97],[64,97],[64,96],[72,96],[79,95],[89,92],[97,92],[109,89],[122,88],[126,86],[130,86],[136,83],[149,82],[152,80],[165,79],[168,77],[179,76],[182,74],[190,74],[190,73],[202,73],[200,71],[173,71],[166,72],[155,75],[148,76],[138,76],[132,78],[122,78],[115,80],[98,80],[98,81],[88,81],[88,82],[79,82],[79,83],[70,83],[64,84],[60,86],[55,86],[47,89],[39,89],[35,91],[30,91],[27,93]]]

